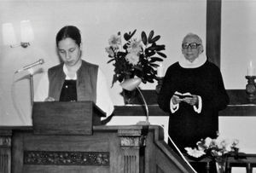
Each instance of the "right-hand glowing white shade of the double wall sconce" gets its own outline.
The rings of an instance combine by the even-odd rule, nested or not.
[[[30,20],[20,21],[20,41],[29,43],[34,39],[34,32]]]

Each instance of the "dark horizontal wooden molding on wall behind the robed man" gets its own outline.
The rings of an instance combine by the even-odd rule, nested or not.
[[[142,90],[148,103],[149,116],[169,116],[169,113],[160,109],[157,104],[157,94],[155,90]],[[256,116],[256,100],[249,101],[245,89],[227,89],[230,96],[230,104],[219,116]],[[143,103],[134,102],[131,105],[115,106],[114,116],[145,116]]]

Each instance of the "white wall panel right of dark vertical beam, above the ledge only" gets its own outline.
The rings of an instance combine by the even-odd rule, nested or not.
[[[255,16],[255,0],[222,2],[221,70],[228,89],[245,89],[249,61],[256,66]]]

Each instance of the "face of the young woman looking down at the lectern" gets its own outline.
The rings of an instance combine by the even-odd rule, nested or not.
[[[75,66],[81,61],[81,49],[70,37],[62,39],[58,43],[58,53],[66,66]]]

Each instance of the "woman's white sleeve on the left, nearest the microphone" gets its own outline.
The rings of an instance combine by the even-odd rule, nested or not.
[[[48,97],[49,79],[48,73],[44,72],[40,78],[38,87],[34,95],[34,101],[44,101]]]

